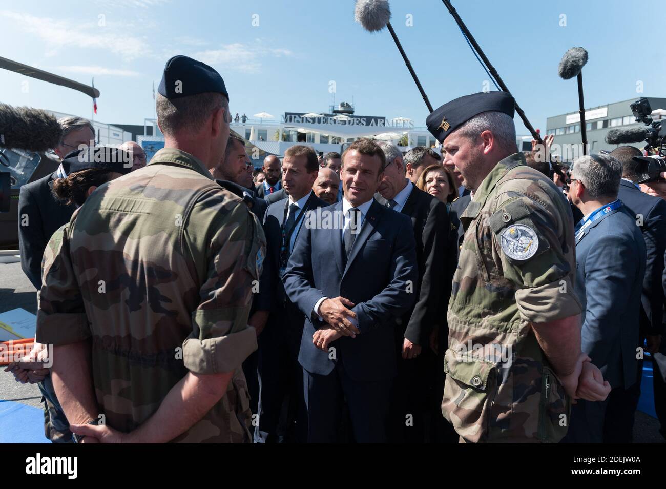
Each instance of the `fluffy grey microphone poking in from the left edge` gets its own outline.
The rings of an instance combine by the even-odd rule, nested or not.
[[[46,111],[0,103],[0,147],[40,153],[55,148],[62,136],[57,119]]]

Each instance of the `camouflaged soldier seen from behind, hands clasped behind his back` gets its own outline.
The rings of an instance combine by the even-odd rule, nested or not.
[[[37,338],[55,346],[56,391],[84,442],[249,442],[240,364],[256,349],[247,319],[265,239],[209,172],[228,94],[184,56],[159,93],[165,149],[95,191],[47,247]]]

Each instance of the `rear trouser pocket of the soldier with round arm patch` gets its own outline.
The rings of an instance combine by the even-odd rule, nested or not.
[[[541,402],[537,438],[544,443],[557,443],[564,438],[571,419],[571,400],[555,372],[543,367],[541,372]]]

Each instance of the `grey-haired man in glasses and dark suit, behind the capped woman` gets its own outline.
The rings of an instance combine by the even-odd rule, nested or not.
[[[95,139],[93,125],[87,119],[63,117],[58,122],[63,139],[54,151],[60,159]],[[21,268],[37,290],[41,288],[41,262],[46,244],[59,227],[69,222],[76,209],[58,201],[51,192],[53,181],[63,177],[67,177],[67,171],[61,164],[51,175],[23,185],[19,194]]]

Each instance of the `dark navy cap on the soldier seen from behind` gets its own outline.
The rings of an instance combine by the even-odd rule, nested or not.
[[[167,99],[179,99],[199,93],[217,92],[229,99],[220,73],[201,61],[183,55],[166,61],[157,91]]]

